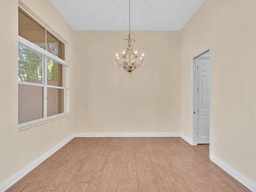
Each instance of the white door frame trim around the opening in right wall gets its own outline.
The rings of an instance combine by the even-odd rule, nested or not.
[[[209,109],[210,109],[210,135],[209,135],[209,143],[210,143],[210,149],[209,149],[209,157],[211,156],[211,151],[212,151],[212,46],[209,45],[204,50],[199,52],[198,54],[194,55],[192,57],[191,61],[191,69],[192,69],[192,104],[193,104],[193,136],[192,136],[192,145],[197,145],[198,144],[198,137],[197,137],[197,70],[196,70],[196,58],[203,55],[205,52],[209,51],[209,60],[210,60],[210,103],[209,103]]]

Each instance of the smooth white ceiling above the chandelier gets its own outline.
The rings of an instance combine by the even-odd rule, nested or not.
[[[74,30],[129,30],[129,0],[51,0]],[[181,30],[204,0],[131,0],[131,30]]]

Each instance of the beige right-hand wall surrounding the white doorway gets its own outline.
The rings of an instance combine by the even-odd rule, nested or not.
[[[206,0],[181,31],[181,132],[192,138],[191,58],[212,45],[212,155],[256,182],[256,1]]]

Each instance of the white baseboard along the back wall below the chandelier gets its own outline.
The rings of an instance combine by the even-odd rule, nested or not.
[[[75,137],[180,137],[180,133],[75,133]]]

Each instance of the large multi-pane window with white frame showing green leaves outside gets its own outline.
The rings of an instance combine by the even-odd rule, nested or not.
[[[21,8],[18,45],[18,124],[31,125],[65,115],[64,43]]]

